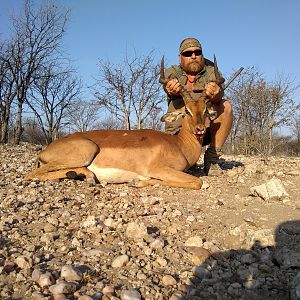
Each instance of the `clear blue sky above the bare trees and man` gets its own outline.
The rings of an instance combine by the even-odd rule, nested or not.
[[[0,32],[22,0],[1,0]],[[257,67],[267,80],[290,75],[300,84],[299,0],[58,0],[71,10],[64,44],[84,84],[94,83],[99,59],[119,63],[126,53],[178,62],[178,45],[198,38],[204,55],[215,53],[223,75]],[[42,3],[42,0],[35,1]],[[300,102],[300,90],[295,94]]]

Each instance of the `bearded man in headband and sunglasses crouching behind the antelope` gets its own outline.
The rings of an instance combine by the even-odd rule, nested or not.
[[[228,101],[223,99],[224,90],[212,80],[215,80],[213,63],[204,58],[200,42],[195,38],[184,39],[179,46],[179,66],[172,66],[165,71],[165,76],[171,79],[166,84],[168,95],[168,112],[184,111],[184,102],[179,93],[179,85],[192,91],[193,98],[199,99],[206,95],[217,111],[217,118],[208,122],[203,146],[209,145],[204,154],[204,172],[206,175],[218,174],[218,165],[222,147],[229,135],[233,114]],[[181,128],[179,119],[166,123],[166,132],[176,134]],[[218,171],[219,170],[219,171]]]

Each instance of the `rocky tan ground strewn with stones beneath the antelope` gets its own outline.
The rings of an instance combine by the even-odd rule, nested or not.
[[[38,150],[0,145],[0,299],[300,299],[299,158],[195,191],[24,181]]]

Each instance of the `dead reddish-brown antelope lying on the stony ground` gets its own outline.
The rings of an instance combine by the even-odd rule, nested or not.
[[[162,59],[160,82],[165,83]],[[185,113],[178,135],[145,130],[95,130],[77,132],[51,143],[38,160],[40,167],[26,179],[94,178],[107,183],[131,182],[134,186],[164,185],[200,189],[198,177],[184,173],[201,154],[207,117],[206,100],[191,101],[181,86]],[[172,121],[172,120],[169,120]]]

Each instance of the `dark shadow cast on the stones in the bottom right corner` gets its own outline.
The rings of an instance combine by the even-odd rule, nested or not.
[[[299,299],[291,295],[299,272],[300,220],[287,221],[277,226],[274,246],[257,240],[250,250],[211,254],[194,267],[184,299]]]

